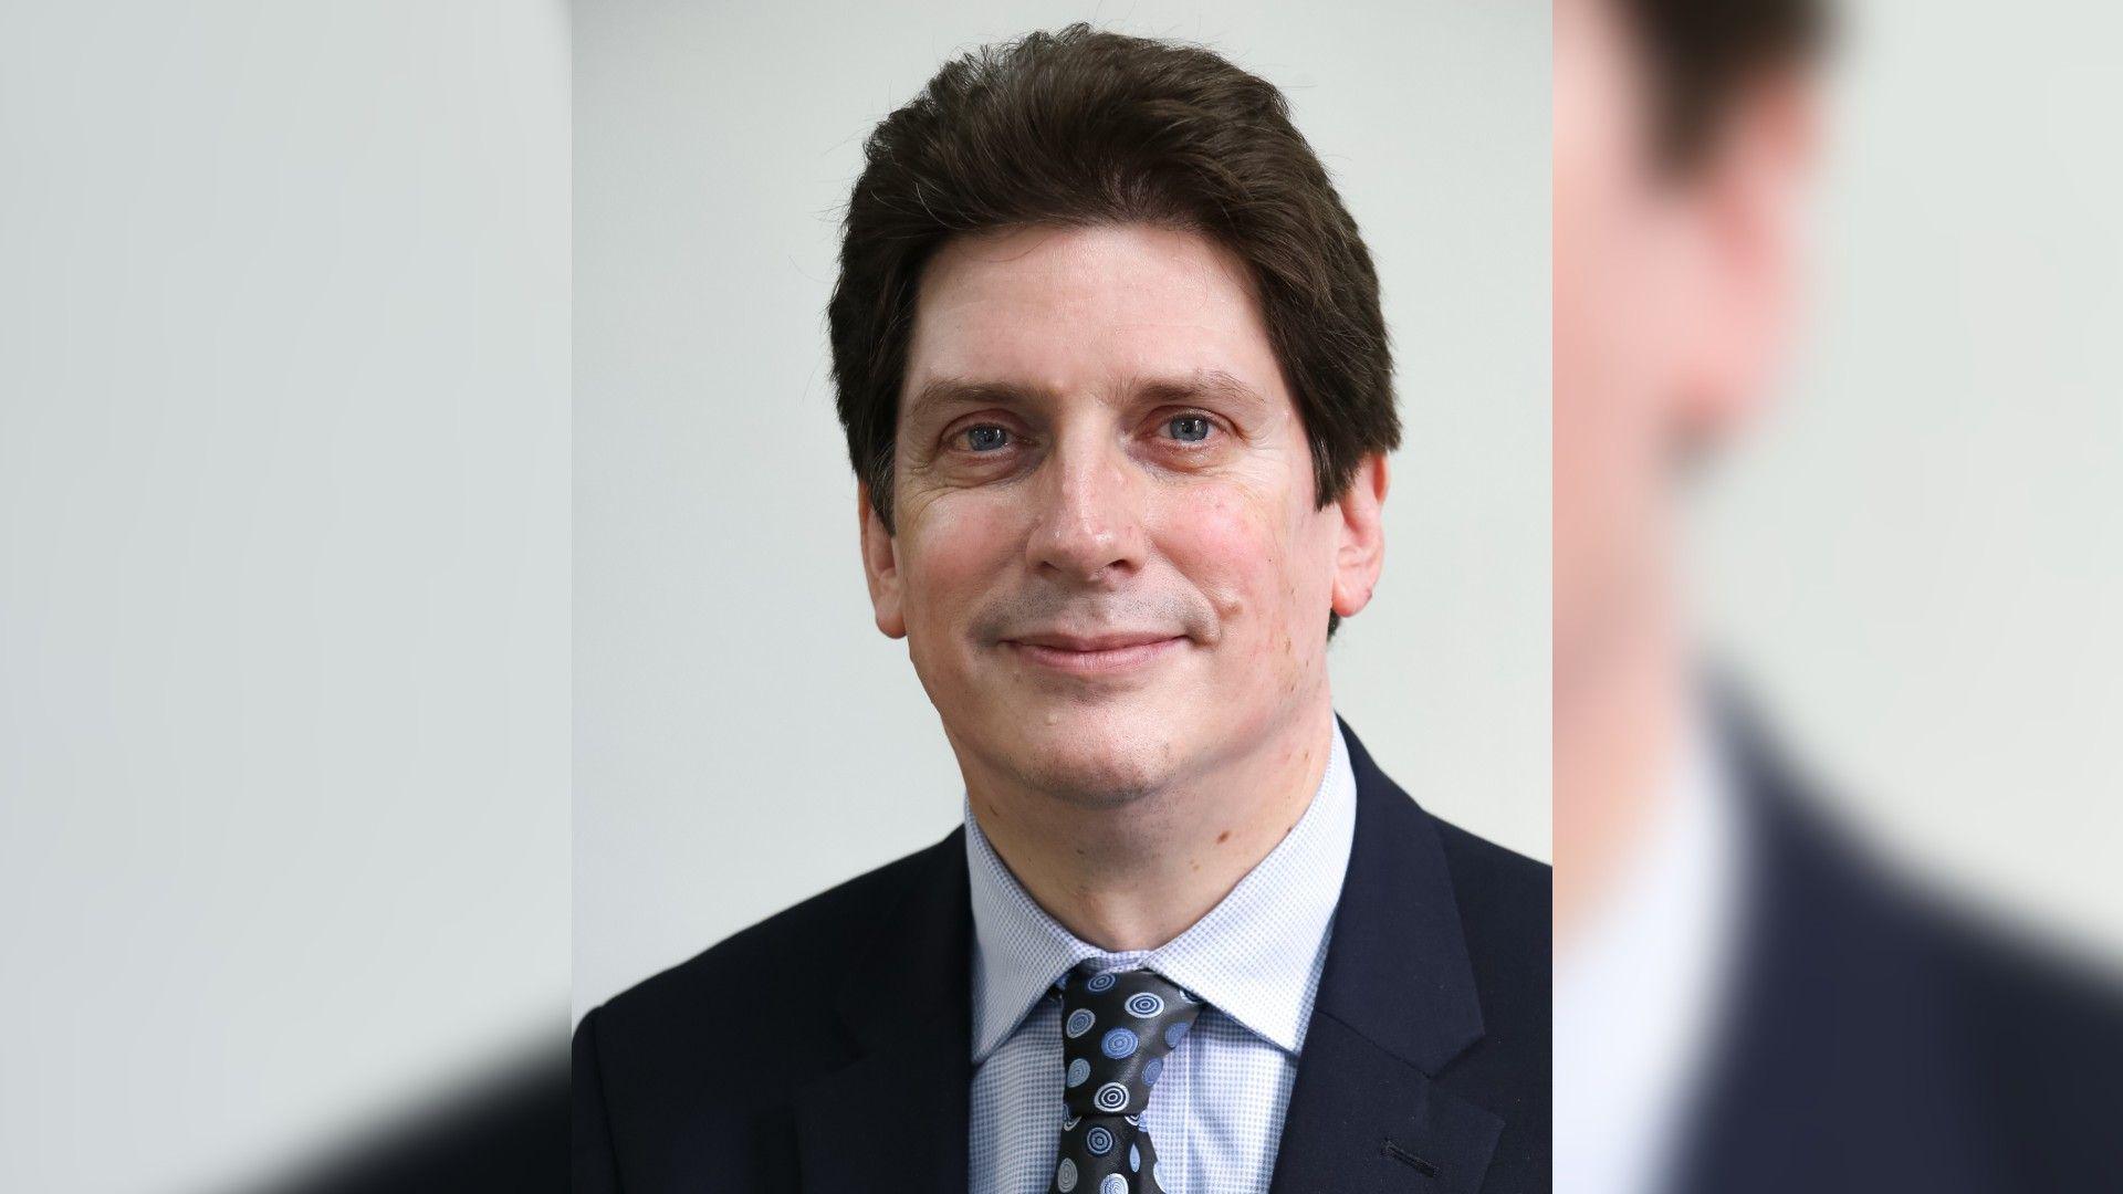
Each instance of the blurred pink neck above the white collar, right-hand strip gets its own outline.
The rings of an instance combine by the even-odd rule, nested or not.
[[[1554,920],[1569,948],[1667,803],[1688,701],[1671,608],[1639,608],[1554,676]]]

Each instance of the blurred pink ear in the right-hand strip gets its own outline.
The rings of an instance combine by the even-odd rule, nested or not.
[[[1690,185],[1692,334],[1681,374],[1690,442],[1722,440],[1745,423],[1783,355],[1798,306],[1815,106],[1815,85],[1800,72],[1756,81]]]

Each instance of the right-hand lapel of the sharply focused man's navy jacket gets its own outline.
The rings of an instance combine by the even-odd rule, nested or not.
[[[1357,839],[1270,1190],[1473,1192],[1503,1120],[1435,1081],[1482,1039],[1444,848],[1348,724],[1342,737]]]

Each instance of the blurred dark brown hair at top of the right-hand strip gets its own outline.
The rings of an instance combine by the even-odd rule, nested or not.
[[[1760,76],[1813,57],[1828,0],[1620,0],[1652,70],[1660,164],[1688,172]]]

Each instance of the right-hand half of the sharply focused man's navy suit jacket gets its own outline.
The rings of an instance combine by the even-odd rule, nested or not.
[[[1548,1190],[1550,871],[1431,816],[1342,733],[1357,841],[1274,1190]]]

